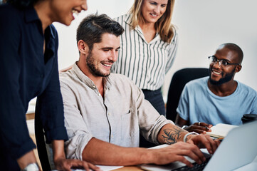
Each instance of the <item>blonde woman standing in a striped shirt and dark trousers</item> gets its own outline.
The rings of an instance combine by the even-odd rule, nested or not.
[[[115,19],[125,33],[112,73],[132,79],[161,115],[165,115],[161,88],[177,51],[173,8],[174,0],[135,0],[128,14]]]

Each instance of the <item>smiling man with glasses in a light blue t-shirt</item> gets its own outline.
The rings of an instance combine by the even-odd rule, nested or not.
[[[212,125],[241,125],[243,114],[256,114],[256,90],[234,80],[235,74],[241,71],[242,60],[239,46],[221,44],[209,56],[210,76],[190,81],[184,87],[176,124],[188,131],[206,133]]]

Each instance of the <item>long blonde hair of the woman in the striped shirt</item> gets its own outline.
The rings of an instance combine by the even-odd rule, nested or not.
[[[135,0],[129,11],[129,13],[132,14],[132,19],[130,23],[132,29],[135,29],[138,24],[145,22],[141,12],[142,1],[145,0]],[[170,43],[174,36],[174,26],[172,25],[172,13],[174,3],[175,0],[168,0],[166,11],[162,15],[162,17],[159,18],[159,20],[154,24],[154,27],[159,33],[162,41],[165,41],[167,43]]]

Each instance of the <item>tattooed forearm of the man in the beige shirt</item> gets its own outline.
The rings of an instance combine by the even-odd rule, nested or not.
[[[184,135],[188,132],[178,127],[177,125],[166,124],[162,127],[158,134],[160,144],[174,144],[178,141],[183,141]]]

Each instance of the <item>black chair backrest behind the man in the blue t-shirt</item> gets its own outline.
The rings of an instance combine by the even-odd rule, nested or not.
[[[186,83],[196,78],[209,76],[209,68],[184,68],[172,76],[167,98],[166,118],[175,122],[177,116],[177,105]]]

